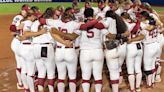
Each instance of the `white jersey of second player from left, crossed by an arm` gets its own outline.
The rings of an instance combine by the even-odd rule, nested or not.
[[[25,31],[31,31],[31,26],[32,26],[32,21],[30,21],[30,20],[25,20],[25,21],[23,21],[22,22],[23,24],[24,24],[24,27],[23,27],[23,34],[24,34],[24,32]],[[32,42],[32,38],[30,37],[30,38],[27,38],[26,40],[23,40],[22,41],[23,43],[29,43],[29,42]]]

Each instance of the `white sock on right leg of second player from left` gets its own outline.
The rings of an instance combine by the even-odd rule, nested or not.
[[[27,75],[27,84],[29,86],[30,92],[35,92],[34,87],[34,77]]]

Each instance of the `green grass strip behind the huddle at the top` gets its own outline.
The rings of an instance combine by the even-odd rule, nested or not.
[[[44,11],[47,7],[56,7],[58,5],[63,5],[64,7],[71,6],[71,3],[66,2],[54,2],[54,3],[3,3],[0,4],[0,14],[16,14],[19,13],[20,7],[23,4],[29,4],[30,6],[38,6],[41,11]],[[80,7],[83,6],[83,3],[79,4]],[[93,6],[96,6],[94,3]],[[164,7],[153,7],[158,12],[164,12]]]

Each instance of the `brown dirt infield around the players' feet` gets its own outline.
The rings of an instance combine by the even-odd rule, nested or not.
[[[160,13],[161,19],[164,23],[164,13]],[[15,58],[14,54],[10,49],[10,43],[12,36],[8,30],[9,25],[12,21],[14,15],[0,15],[0,92],[23,92],[22,90],[16,89],[16,75],[15,75]],[[162,55],[164,59],[164,53]],[[164,64],[162,64],[164,66]],[[164,68],[162,69],[164,71]],[[109,91],[108,77],[105,76],[106,71],[104,70],[103,76],[103,91],[102,92],[111,92]],[[155,88],[151,90],[145,89],[144,85],[142,86],[142,92],[164,92],[164,73],[162,73],[162,82],[156,83]],[[93,84],[94,85],[94,84]],[[94,88],[92,85],[92,91]],[[121,92],[128,92],[128,85],[125,84],[122,87]],[[78,91],[81,92],[81,91]]]

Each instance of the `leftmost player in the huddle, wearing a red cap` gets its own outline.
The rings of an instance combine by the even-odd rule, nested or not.
[[[14,38],[11,42],[11,49],[13,50],[15,54],[15,59],[16,59],[16,75],[18,79],[17,83],[17,89],[23,89],[23,84],[22,84],[22,79],[21,79],[21,68],[22,68],[22,57],[19,54],[19,46],[20,46],[20,41],[17,39],[17,36],[20,35],[20,31],[22,29],[23,25],[20,25],[21,21],[26,17],[27,11],[29,10],[28,5],[23,5],[22,6],[22,11],[19,15],[16,15],[13,18],[12,25],[10,26],[10,30],[12,34],[14,35]]]

